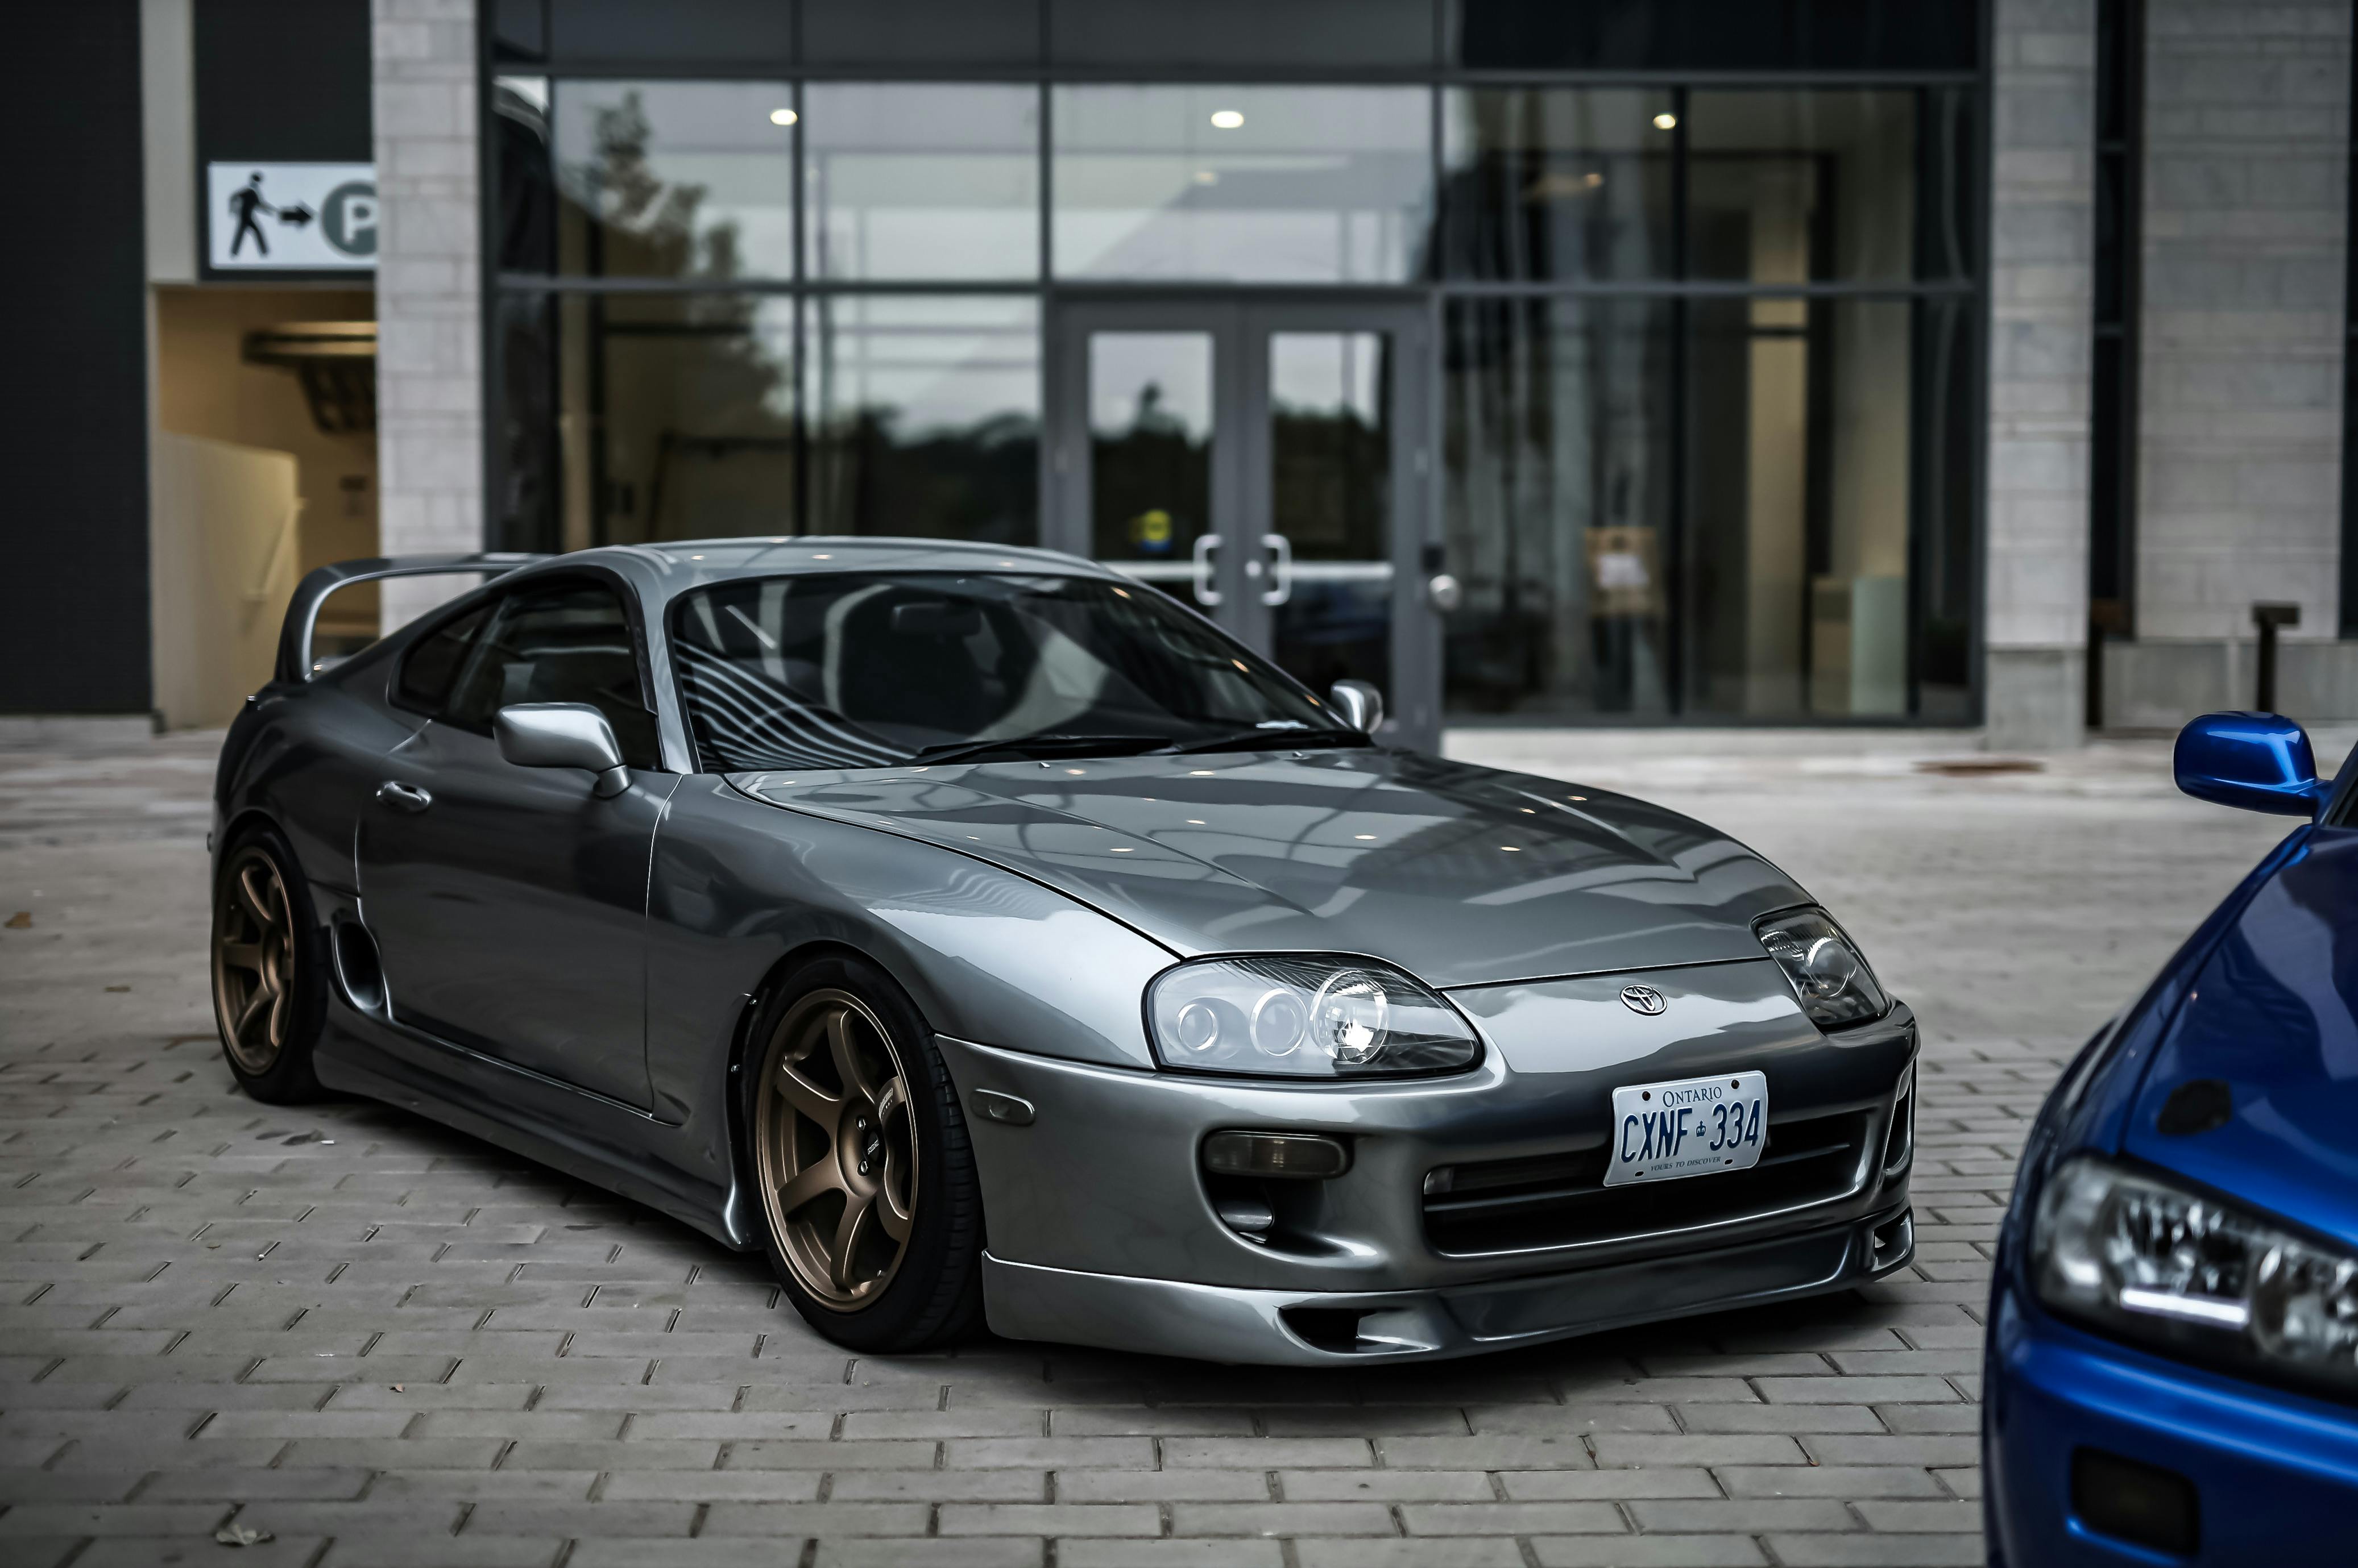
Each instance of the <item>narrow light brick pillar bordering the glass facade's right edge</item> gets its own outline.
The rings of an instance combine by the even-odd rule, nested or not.
[[[1997,0],[1985,712],[1997,750],[2087,724],[2096,2]]]

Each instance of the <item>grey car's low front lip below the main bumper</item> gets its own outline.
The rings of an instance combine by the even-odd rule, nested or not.
[[[1009,1339],[1259,1365],[1422,1361],[1846,1290],[1912,1254],[1905,1207],[1700,1254],[1448,1290],[1243,1290],[983,1254],[983,1309]]]

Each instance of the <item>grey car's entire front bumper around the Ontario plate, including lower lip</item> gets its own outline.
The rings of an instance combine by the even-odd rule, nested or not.
[[[1915,1021],[1820,1035],[1768,960],[1453,997],[1483,1059],[1283,1082],[936,1035],[967,1103],[1002,1335],[1226,1361],[1450,1356],[1875,1278],[1908,1259]],[[1601,1188],[1615,1085],[1761,1068],[1757,1172]],[[1349,1148],[1325,1179],[1205,1170],[1217,1132]],[[1259,1221],[1238,1217],[1259,1214]]]

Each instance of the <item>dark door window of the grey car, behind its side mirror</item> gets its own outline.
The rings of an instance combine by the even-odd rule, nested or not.
[[[490,717],[509,703],[590,703],[613,724],[623,762],[663,766],[656,714],[639,703],[630,618],[611,587],[554,582],[500,604],[443,717],[488,731]]]

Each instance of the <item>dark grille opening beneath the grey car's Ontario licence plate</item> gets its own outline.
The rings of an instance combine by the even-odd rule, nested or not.
[[[1768,1125],[1752,1170],[1603,1186],[1603,1144],[1559,1155],[1450,1165],[1424,1181],[1436,1252],[1509,1252],[1679,1231],[1842,1198],[1858,1184],[1868,1113]]]

